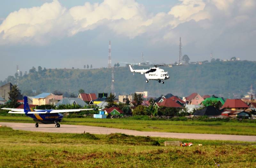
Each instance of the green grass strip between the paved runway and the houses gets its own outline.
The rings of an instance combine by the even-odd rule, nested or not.
[[[0,122],[34,122],[26,116],[0,116]],[[256,135],[256,124],[239,121],[205,122],[198,120],[134,120],[127,118],[63,118],[61,124],[90,125],[108,128],[133,129],[139,131],[180,132],[203,134]]]

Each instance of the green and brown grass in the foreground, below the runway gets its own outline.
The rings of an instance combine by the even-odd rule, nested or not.
[[[164,147],[157,137],[42,133],[0,127],[0,167],[255,167],[253,143]],[[203,146],[198,146],[202,143]]]

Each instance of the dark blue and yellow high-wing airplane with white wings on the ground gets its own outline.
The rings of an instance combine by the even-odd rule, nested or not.
[[[85,111],[85,110],[94,110],[94,108],[87,108],[87,109],[64,109],[64,110],[38,110],[29,108],[28,105],[28,97],[24,96],[24,109],[19,108],[1,108],[4,110],[11,110],[8,113],[13,114],[25,114],[28,117],[33,118],[36,122],[35,127],[38,127],[38,123],[40,124],[54,124],[55,127],[60,127],[60,123],[63,115],[60,113],[66,112],[77,112],[77,111]]]

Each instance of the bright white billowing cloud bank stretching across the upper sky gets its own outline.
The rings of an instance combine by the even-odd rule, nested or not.
[[[184,44],[189,44],[199,36],[203,38],[200,32],[204,32],[205,40],[210,43],[228,29],[255,18],[254,11],[254,0],[180,0],[168,13],[156,15],[147,13],[135,0],[87,2],[69,10],[58,0],[53,0],[39,7],[10,13],[0,25],[0,44],[44,45],[99,26],[128,38],[143,36],[152,43],[161,40],[176,43],[183,34],[190,38]],[[205,40],[200,41],[204,43]]]

